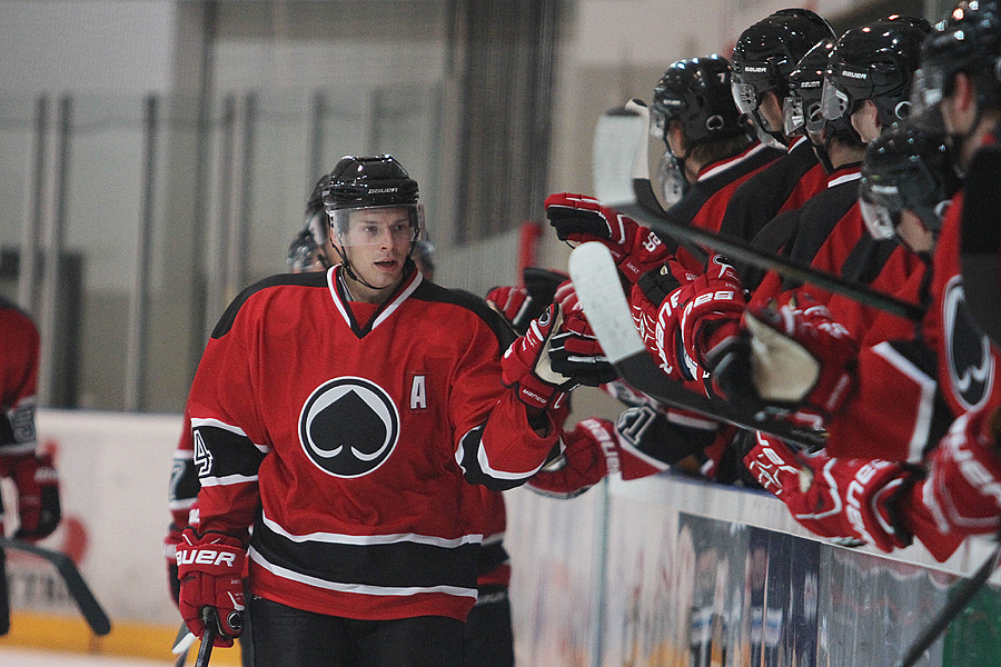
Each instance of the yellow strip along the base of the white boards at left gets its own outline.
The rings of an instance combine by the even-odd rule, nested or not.
[[[180,621],[178,621],[178,627]],[[129,623],[111,619],[111,633],[97,637],[80,618],[51,614],[11,611],[10,633],[0,637],[0,646],[65,650],[106,656],[126,656],[149,660],[163,660],[172,665],[176,656],[170,653],[177,627]],[[198,643],[188,653],[188,665],[195,664]],[[239,646],[212,649],[212,665],[240,664]]]

